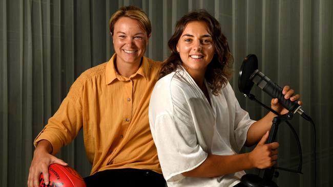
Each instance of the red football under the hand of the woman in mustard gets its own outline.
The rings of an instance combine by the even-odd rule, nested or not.
[[[47,187],[86,187],[85,181],[73,168],[52,163],[49,166],[49,185],[44,182],[43,173],[39,177],[39,186]]]

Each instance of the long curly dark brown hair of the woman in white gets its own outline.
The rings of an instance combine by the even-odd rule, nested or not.
[[[204,21],[209,29],[208,32],[212,35],[215,54],[211,63],[207,66],[205,79],[209,83],[212,93],[218,95],[222,86],[226,84],[232,75],[231,66],[234,58],[230,53],[227,39],[221,32],[220,23],[205,10],[189,12],[177,21],[175,33],[168,42],[171,54],[163,62],[159,72],[159,79],[171,72],[175,72],[177,67],[182,65],[176,46],[186,25],[191,21]]]

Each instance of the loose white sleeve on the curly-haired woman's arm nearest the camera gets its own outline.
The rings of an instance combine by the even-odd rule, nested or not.
[[[165,179],[181,180],[181,174],[198,167],[207,153],[197,143],[190,120],[177,115],[159,115],[155,120],[154,142]]]

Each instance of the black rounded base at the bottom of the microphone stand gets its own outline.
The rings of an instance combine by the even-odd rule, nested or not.
[[[240,181],[248,187],[278,187],[272,180],[265,180],[254,174],[245,174]]]

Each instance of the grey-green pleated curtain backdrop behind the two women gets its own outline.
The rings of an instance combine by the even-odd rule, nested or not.
[[[242,96],[238,71],[247,54],[256,54],[259,69],[280,86],[301,94],[303,109],[316,123],[317,185],[333,183],[333,3],[329,0],[2,0],[0,2],[0,185],[26,185],[33,139],[47,124],[75,79],[106,62],[114,53],[111,15],[123,5],[142,8],[152,22],[146,56],[163,61],[176,21],[186,12],[206,9],[221,23],[234,55],[230,80],[240,105],[251,118],[267,112]],[[269,106],[259,88],[251,91]],[[303,175],[280,171],[280,186],[314,186],[313,129],[299,116],[292,121],[303,151]],[[298,150],[286,125],[278,132],[283,168],[297,169]],[[242,151],[251,151],[244,148]],[[61,149],[82,176],[91,165],[82,132]],[[256,173],[257,170],[247,171]]]

